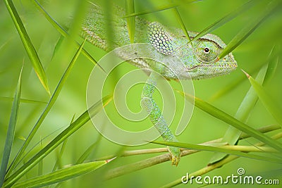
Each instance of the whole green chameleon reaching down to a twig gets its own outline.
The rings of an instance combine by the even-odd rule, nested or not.
[[[109,16],[104,15],[99,6],[92,5],[90,12],[82,23],[82,37],[106,51],[130,44],[126,21],[121,18],[125,15],[123,9],[114,6],[111,11],[112,15],[109,18]],[[111,27],[109,27],[109,24]],[[180,60],[177,65],[174,65],[178,71],[173,73],[171,69],[156,63],[156,61],[140,58],[130,61],[138,68],[148,68],[167,79],[174,80],[199,80],[216,77],[231,73],[237,68],[237,63],[232,54],[228,54],[222,59],[218,58],[226,44],[216,35],[207,34],[195,40],[195,42],[189,43],[182,30],[166,28],[157,22],[149,23],[142,18],[136,18],[135,28],[135,43],[152,44],[154,51],[150,53],[158,53],[158,55],[167,57],[177,56]],[[197,35],[197,32],[188,32],[188,34],[193,38]],[[120,56],[126,56],[126,52]],[[157,128],[161,137],[166,142],[178,142],[175,135],[169,130],[161,110],[152,98],[154,89],[157,86],[157,74],[154,71],[149,74],[143,87],[141,104],[147,110],[149,119]],[[178,165],[181,156],[180,149],[168,146],[168,151],[171,153],[172,164]]]

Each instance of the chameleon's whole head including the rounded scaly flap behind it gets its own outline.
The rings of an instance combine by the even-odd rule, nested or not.
[[[197,33],[188,32],[193,39]],[[182,30],[169,31],[160,23],[150,23],[149,43],[164,56],[176,56],[180,61],[171,65],[174,74],[167,71],[166,77],[172,79],[202,79],[226,75],[237,68],[232,54],[219,59],[226,44],[216,35],[207,34],[189,42]],[[174,77],[177,75],[177,77]]]

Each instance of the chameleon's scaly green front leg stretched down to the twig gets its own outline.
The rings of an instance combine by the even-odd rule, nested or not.
[[[178,142],[174,134],[169,130],[166,120],[164,120],[164,116],[154,101],[152,95],[154,94],[154,89],[157,87],[157,73],[152,71],[150,73],[147,82],[145,83],[142,96],[141,96],[141,104],[142,107],[146,109],[149,114],[149,118],[154,124],[154,127],[157,128],[161,137],[163,137],[166,142]],[[171,161],[173,165],[178,165],[180,161],[181,151],[178,147],[168,146],[168,151],[171,153]]]

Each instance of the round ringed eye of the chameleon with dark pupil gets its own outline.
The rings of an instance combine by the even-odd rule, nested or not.
[[[212,63],[219,56],[219,46],[208,40],[201,40],[195,46],[195,55],[203,63]]]

